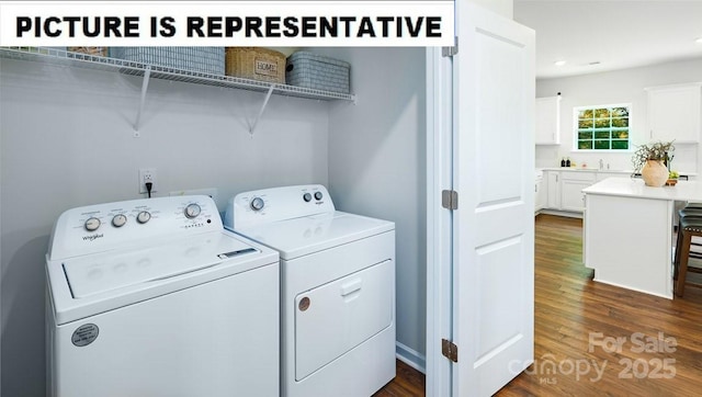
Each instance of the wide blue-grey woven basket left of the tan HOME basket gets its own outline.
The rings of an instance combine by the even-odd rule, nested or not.
[[[111,47],[113,58],[224,75],[224,47]]]

